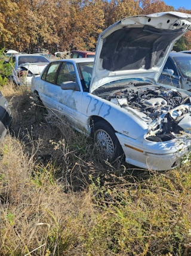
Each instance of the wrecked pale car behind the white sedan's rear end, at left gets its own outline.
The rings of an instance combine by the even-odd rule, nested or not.
[[[8,61],[10,65],[13,65],[13,73],[10,80],[12,80],[15,85],[31,85],[32,77],[39,76],[49,62],[49,59],[41,55],[13,55]]]

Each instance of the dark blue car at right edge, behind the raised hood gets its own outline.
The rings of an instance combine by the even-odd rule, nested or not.
[[[158,82],[191,91],[191,55],[171,52]]]

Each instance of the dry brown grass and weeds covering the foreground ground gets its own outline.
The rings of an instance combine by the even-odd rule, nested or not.
[[[37,121],[28,88],[2,91],[0,255],[191,255],[190,165],[114,168],[67,122]]]

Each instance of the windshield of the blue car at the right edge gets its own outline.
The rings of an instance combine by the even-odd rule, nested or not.
[[[183,77],[191,78],[191,56],[174,57],[174,61]]]

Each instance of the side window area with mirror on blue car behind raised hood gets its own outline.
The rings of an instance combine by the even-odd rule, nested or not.
[[[168,70],[173,70],[174,74],[170,74],[170,72],[168,73]],[[166,71],[166,74],[164,73],[164,71]],[[177,67],[174,65],[170,58],[167,59],[167,62],[163,68],[162,74],[159,77],[158,82],[164,85],[171,85],[177,88],[181,87],[180,76],[178,74]]]

